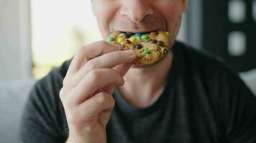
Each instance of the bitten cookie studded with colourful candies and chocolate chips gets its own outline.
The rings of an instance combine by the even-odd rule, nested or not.
[[[161,30],[136,34],[114,31],[109,35],[107,41],[122,45],[123,50],[134,50],[137,59],[133,61],[133,64],[139,66],[154,64],[168,54],[169,35],[168,31]]]

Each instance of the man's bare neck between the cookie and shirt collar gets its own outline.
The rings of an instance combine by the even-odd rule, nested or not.
[[[147,107],[154,103],[165,89],[165,82],[173,61],[173,54],[153,66],[129,69],[125,84],[118,90],[122,97],[135,107]]]

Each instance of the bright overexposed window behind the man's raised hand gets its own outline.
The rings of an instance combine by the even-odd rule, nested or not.
[[[88,0],[31,1],[32,74],[39,79],[72,58],[80,46],[101,40]]]

